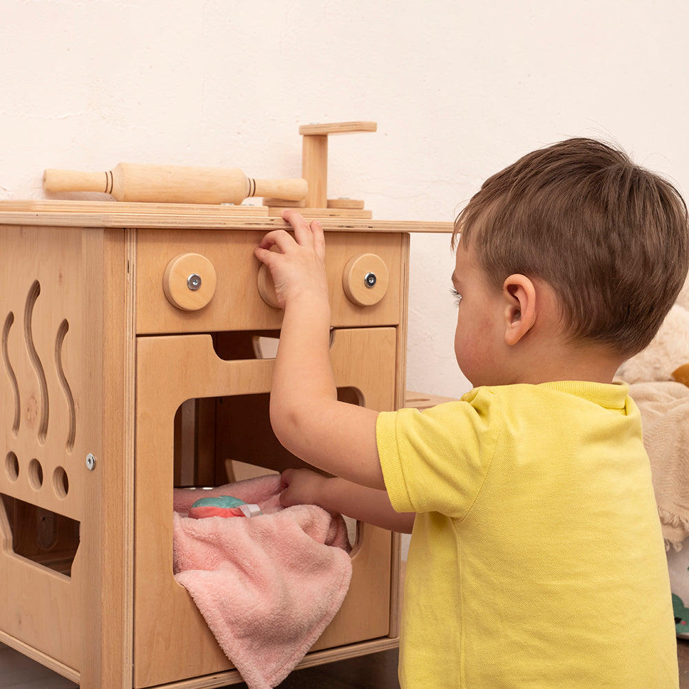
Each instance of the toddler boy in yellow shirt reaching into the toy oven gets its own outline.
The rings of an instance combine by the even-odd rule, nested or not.
[[[686,205],[575,138],[489,178],[455,223],[455,355],[473,390],[424,412],[338,402],[317,222],[256,256],[285,309],[271,391],[284,504],[411,531],[403,688],[677,688],[639,411],[619,365],[689,266]],[[277,247],[278,252],[269,251]]]

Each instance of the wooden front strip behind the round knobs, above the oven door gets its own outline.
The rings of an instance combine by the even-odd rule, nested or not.
[[[192,333],[223,330],[278,329],[282,311],[269,306],[258,292],[260,263],[254,247],[263,232],[253,230],[165,230],[140,229],[136,249],[136,331],[140,334]],[[403,307],[402,286],[406,284],[405,234],[329,232],[326,265],[332,305],[333,327],[398,325]],[[175,306],[166,296],[165,272],[183,254],[198,254],[199,274],[214,272],[214,292],[207,303],[194,310]],[[387,289],[379,280],[376,289],[384,289],[375,304],[358,305],[349,298],[342,285],[342,275],[351,272],[351,261],[360,254],[374,254],[382,259],[388,271]],[[178,262],[186,272],[185,261]],[[376,261],[374,265],[380,265]],[[177,265],[177,264],[175,264]],[[208,266],[212,265],[212,269]],[[169,270],[168,270],[169,274]],[[178,274],[177,289],[185,293],[186,280]],[[362,279],[357,276],[357,279]],[[199,290],[200,291],[200,290]],[[206,298],[208,298],[208,294]],[[181,294],[183,299],[185,294]],[[189,298],[194,293],[189,292]],[[203,295],[201,295],[203,296]],[[203,300],[201,300],[203,303]]]

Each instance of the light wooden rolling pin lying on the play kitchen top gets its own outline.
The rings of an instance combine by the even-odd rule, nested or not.
[[[242,203],[249,196],[300,201],[304,179],[251,179],[240,169],[119,163],[109,172],[47,169],[46,192],[104,192],[119,201]]]

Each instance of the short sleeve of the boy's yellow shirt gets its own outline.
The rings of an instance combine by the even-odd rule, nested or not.
[[[393,508],[466,516],[493,460],[497,416],[500,398],[487,388],[425,411],[381,412],[376,441]]]

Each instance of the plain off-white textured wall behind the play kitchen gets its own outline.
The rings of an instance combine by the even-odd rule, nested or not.
[[[45,167],[119,161],[299,176],[331,138],[329,196],[452,220],[482,180],[566,136],[604,136],[689,192],[689,4],[667,0],[1,0],[0,198]],[[467,387],[446,236],[412,240],[411,389]]]

